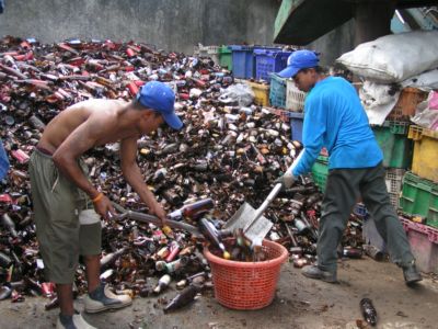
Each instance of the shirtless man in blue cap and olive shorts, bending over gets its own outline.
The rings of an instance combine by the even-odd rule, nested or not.
[[[79,254],[87,266],[89,294],[84,309],[97,313],[131,304],[100,282],[101,220],[114,214],[108,197],[91,184],[80,157],[89,149],[120,141],[122,171],[127,182],[165,220],[165,213],[143,182],[136,162],[137,139],[164,122],[183,125],[174,112],[174,93],[162,82],[148,82],[130,103],[89,100],[57,115],[32,155],[32,196],[46,279],[56,283],[60,304],[57,328],[94,328],[73,309],[72,283]]]

